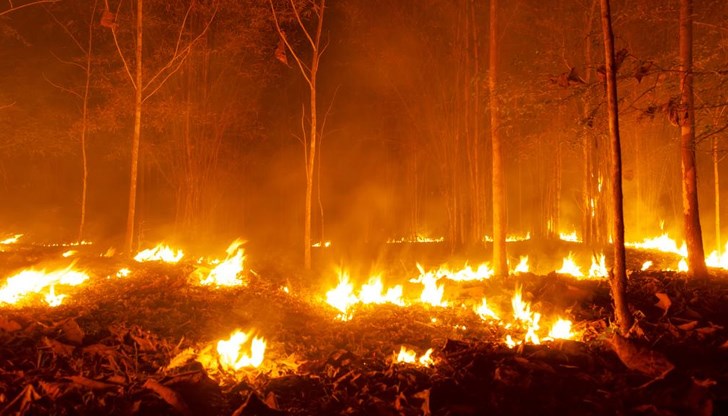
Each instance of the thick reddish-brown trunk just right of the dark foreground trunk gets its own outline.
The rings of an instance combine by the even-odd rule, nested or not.
[[[703,277],[703,234],[698,209],[698,176],[695,162],[695,105],[693,97],[693,1],[680,0],[680,155],[682,158],[683,218],[688,248],[689,274]]]

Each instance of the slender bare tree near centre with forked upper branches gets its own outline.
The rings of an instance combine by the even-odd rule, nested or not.
[[[276,30],[278,31],[281,42],[283,43],[283,45],[285,45],[285,49],[290,52],[290,54],[293,56],[293,59],[296,61],[296,65],[301,72],[301,76],[306,81],[309,90],[308,134],[306,134],[304,129],[303,137],[301,138],[306,169],[306,196],[304,202],[303,224],[303,265],[308,270],[311,268],[311,216],[314,187],[314,169],[316,167],[316,146],[318,145],[320,135],[319,126],[317,125],[316,80],[318,76],[319,63],[321,62],[321,56],[326,50],[326,45],[321,44],[326,0],[307,0],[304,6],[297,5],[293,0],[290,0],[290,11],[293,14],[293,18],[295,19],[296,24],[303,33],[305,41],[311,49],[311,56],[308,62],[304,61],[305,58],[301,55],[302,51],[296,48],[291,43],[291,41],[286,37],[286,33],[283,31],[283,29],[281,29],[281,23],[279,18],[280,12],[276,11],[276,8],[273,6],[273,0],[268,0],[268,3],[270,4],[270,9],[273,13],[273,21],[275,22]],[[313,12],[313,29],[306,27],[303,21],[301,12],[303,7],[306,6],[310,7]]]

